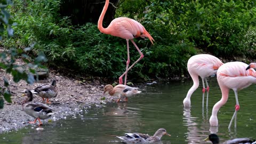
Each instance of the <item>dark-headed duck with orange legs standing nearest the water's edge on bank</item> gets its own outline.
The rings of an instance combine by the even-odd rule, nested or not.
[[[25,95],[27,95],[27,99],[23,101],[22,108],[26,114],[36,118],[34,122],[29,122],[31,124],[35,124],[38,120],[39,125],[42,125],[40,119],[46,119],[51,117],[53,114],[53,109],[39,102],[32,102],[33,93],[29,90],[25,91]]]

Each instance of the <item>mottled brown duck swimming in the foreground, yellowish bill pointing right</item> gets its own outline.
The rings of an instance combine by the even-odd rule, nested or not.
[[[163,135],[169,135],[165,129],[158,129],[153,136],[142,133],[125,133],[123,137],[117,137],[125,143],[153,143],[160,141]]]

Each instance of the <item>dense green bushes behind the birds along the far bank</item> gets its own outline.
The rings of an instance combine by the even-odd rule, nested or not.
[[[145,57],[129,72],[131,77],[171,78],[187,73],[187,60],[198,52],[226,55],[255,55],[254,1],[120,1],[116,17],[133,18],[155,39],[137,38]],[[72,26],[60,17],[59,0],[14,1],[10,11],[15,35],[5,38],[5,47],[26,47],[37,42],[34,52],[43,51],[54,65],[65,65],[94,76],[117,78],[124,72],[125,39],[101,34],[97,23]],[[101,10],[99,10],[101,11]],[[197,49],[195,48],[197,47]],[[130,43],[131,63],[139,53]]]

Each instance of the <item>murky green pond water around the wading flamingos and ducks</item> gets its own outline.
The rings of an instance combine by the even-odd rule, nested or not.
[[[171,137],[164,135],[161,143],[210,143],[202,141],[217,132],[221,141],[232,138],[256,138],[256,113],[252,101],[255,85],[238,91],[240,110],[237,128],[234,123],[228,130],[235,110],[235,95],[230,90],[229,100],[219,113],[219,126],[210,127],[213,105],[220,100],[221,91],[215,78],[211,78],[208,106],[202,107],[202,84],[191,97],[191,108],[183,108],[183,99],[192,81],[148,85],[141,94],[128,102],[109,102],[103,108],[91,110],[56,122],[46,123],[44,131],[27,126],[18,131],[0,134],[0,143],[121,143],[116,135],[141,132],[153,135],[161,127]],[[205,94],[206,96],[206,94]],[[206,103],[206,98],[205,102]]]

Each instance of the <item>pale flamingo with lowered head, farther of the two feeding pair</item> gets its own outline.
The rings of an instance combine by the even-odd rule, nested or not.
[[[186,98],[183,100],[184,107],[190,107],[190,97],[194,93],[194,91],[199,86],[199,79],[198,76],[202,78],[203,83],[203,93],[205,93],[205,85],[204,79],[206,83],[206,91],[209,92],[210,88],[207,83],[206,77],[214,75],[217,73],[218,68],[223,65],[223,63],[216,57],[210,54],[197,54],[191,57],[188,60],[188,73],[190,74],[191,78],[193,79],[193,86],[189,89]]]

